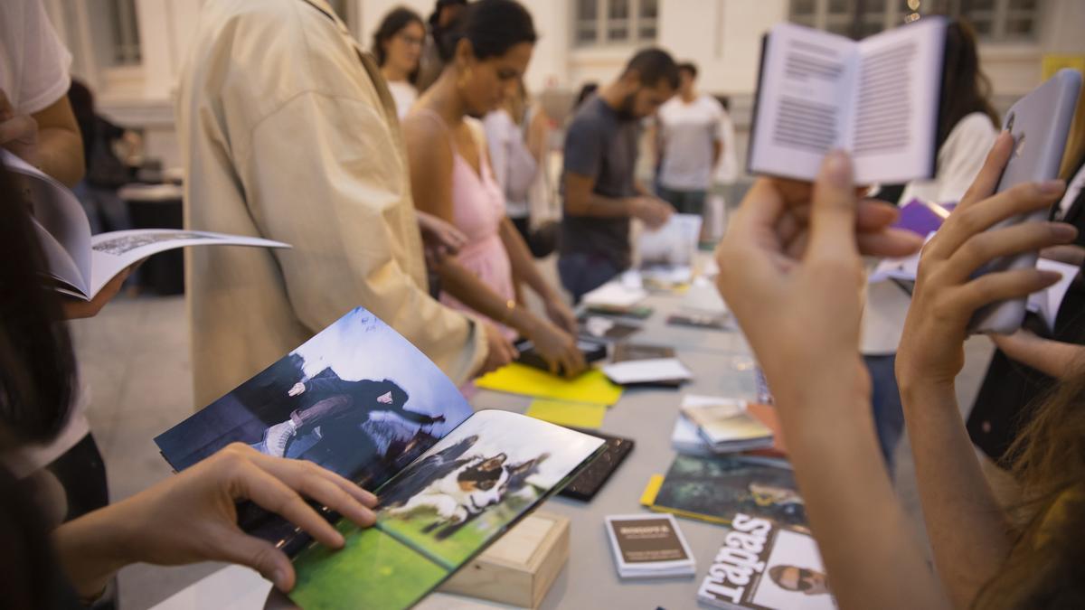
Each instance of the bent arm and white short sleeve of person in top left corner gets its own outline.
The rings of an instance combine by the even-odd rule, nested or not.
[[[85,166],[71,65],[40,0],[0,2],[0,145],[73,187]]]

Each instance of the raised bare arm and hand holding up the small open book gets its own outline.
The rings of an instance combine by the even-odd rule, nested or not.
[[[813,196],[793,182],[754,185],[717,252],[720,292],[776,395],[840,607],[947,608],[882,465],[857,350],[859,254],[903,255],[920,242],[885,229],[893,209],[855,201],[842,155]]]

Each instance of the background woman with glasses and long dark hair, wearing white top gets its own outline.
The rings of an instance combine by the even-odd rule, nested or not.
[[[388,84],[388,92],[396,102],[399,118],[407,116],[418,99],[414,81],[418,79],[425,26],[414,11],[397,7],[384,15],[373,33],[373,56],[381,66],[381,76]]]

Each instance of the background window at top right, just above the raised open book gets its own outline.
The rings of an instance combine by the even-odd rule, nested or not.
[[[963,17],[984,42],[1036,39],[1045,0],[791,0],[791,22],[859,39],[921,15]]]

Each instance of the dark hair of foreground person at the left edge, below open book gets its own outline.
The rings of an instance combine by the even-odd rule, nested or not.
[[[0,164],[0,450],[46,442],[67,421],[75,356],[29,203]]]

